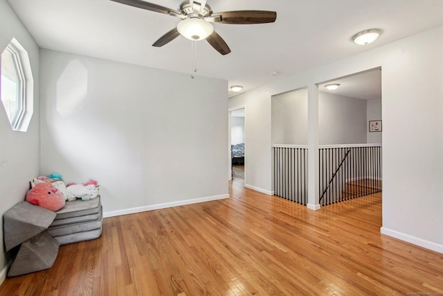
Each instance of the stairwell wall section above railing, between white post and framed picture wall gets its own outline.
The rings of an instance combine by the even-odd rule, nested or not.
[[[366,143],[366,101],[318,92],[320,145]]]

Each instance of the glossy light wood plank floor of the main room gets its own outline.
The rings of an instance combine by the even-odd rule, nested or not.
[[[443,254],[379,233],[381,194],[320,211],[244,189],[106,218],[0,295],[442,295]],[[419,293],[419,294],[417,294]],[[439,294],[440,293],[440,294]]]

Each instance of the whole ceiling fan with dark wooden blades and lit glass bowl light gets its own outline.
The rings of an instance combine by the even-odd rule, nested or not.
[[[114,2],[160,12],[172,17],[181,19],[177,28],[159,38],[152,46],[161,47],[168,44],[179,35],[190,40],[204,40],[213,46],[213,48],[226,55],[230,53],[228,44],[214,31],[213,25],[210,23],[219,24],[266,24],[273,23],[277,18],[277,12],[264,10],[236,10],[214,13],[208,6],[206,0],[197,1],[183,1],[178,10],[159,6],[154,3],[143,0],[111,0]]]

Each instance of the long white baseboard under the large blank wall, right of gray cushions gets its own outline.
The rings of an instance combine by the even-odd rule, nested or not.
[[[192,200],[180,200],[178,202],[165,202],[164,204],[152,204],[150,206],[134,207],[134,208],[130,208],[130,209],[120,209],[117,211],[104,211],[103,217],[109,218],[109,217],[114,217],[114,216],[136,214],[136,213],[141,213],[143,211],[153,211],[156,209],[166,209],[166,208],[170,208],[170,207],[179,207],[179,206],[183,206],[186,204],[197,204],[199,202],[211,202],[213,200],[224,200],[225,198],[229,198],[229,194],[208,196],[206,198],[195,198]]]

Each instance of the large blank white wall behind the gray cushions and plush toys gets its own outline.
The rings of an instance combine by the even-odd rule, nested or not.
[[[41,80],[42,173],[98,180],[105,216],[228,197],[226,81],[48,50]]]

